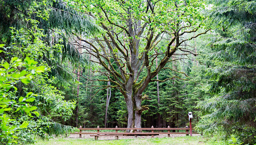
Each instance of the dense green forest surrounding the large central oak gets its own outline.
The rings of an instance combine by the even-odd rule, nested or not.
[[[191,111],[192,126],[202,135],[212,140],[234,138],[244,144],[255,143],[256,1],[115,2],[125,8],[145,4],[139,5],[145,14],[133,11],[134,19],[140,18],[137,15],[143,21],[161,19],[149,25],[149,34],[169,27],[169,13],[160,9],[157,15],[157,6],[154,11],[152,5],[161,2],[177,11],[173,14],[177,22],[170,27],[174,34],[153,34],[156,39],[152,44],[156,45],[145,53],[152,56],[152,69],[157,70],[164,60],[169,40],[178,36],[182,42],[187,40],[140,94],[141,127],[189,126],[187,114]],[[111,15],[116,14],[113,7],[107,6],[108,1],[0,1],[0,143],[33,143],[36,137],[48,139],[79,126],[127,127],[125,91],[113,84],[118,81],[112,81],[115,76],[106,71],[111,67],[118,71],[120,66],[110,57],[104,68],[92,53],[94,46],[114,48],[114,42],[104,37],[111,34],[117,41],[120,37],[118,43],[124,48],[131,43],[132,37],[113,29],[116,25],[111,20],[120,20]],[[100,17],[104,9],[110,19]],[[190,26],[183,28],[184,23]],[[111,28],[109,34],[103,26]],[[176,29],[184,29],[185,35],[176,35]],[[140,45],[146,42],[142,40]],[[106,52],[121,55],[121,50],[111,50]],[[100,49],[99,54],[104,51]],[[145,51],[139,48],[142,54]],[[121,68],[128,70],[128,63]],[[138,80],[149,74],[146,68],[141,69]]]

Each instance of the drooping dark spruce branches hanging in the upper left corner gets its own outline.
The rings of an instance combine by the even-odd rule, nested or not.
[[[43,57],[43,60],[52,67],[51,75],[58,78],[59,85],[72,84],[72,82],[67,83],[67,80],[72,80],[72,75],[63,69],[65,66],[62,66],[62,63],[69,61],[75,67],[85,66],[86,58],[75,48],[71,39],[74,33],[84,36],[99,34],[100,30],[92,23],[92,19],[81,15],[62,1],[29,0],[24,3],[23,1],[2,1],[1,4],[1,16],[6,21],[1,21],[0,41],[10,45],[13,43],[10,28],[31,29],[34,27],[34,22],[28,22],[27,19],[34,19],[38,23],[37,27],[43,29],[42,32],[45,35],[42,38],[43,43],[52,47],[52,54],[46,52]],[[5,23],[9,21],[11,22]],[[34,37],[33,34],[30,35]],[[51,57],[49,55],[54,55],[58,59],[49,59]]]

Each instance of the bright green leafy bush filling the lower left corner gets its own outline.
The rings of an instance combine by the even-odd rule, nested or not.
[[[0,45],[0,47],[3,46]],[[27,92],[28,89],[23,88],[23,94],[26,95],[17,96],[18,89],[15,85],[18,83],[29,84],[38,78],[44,82],[45,78],[40,76],[46,67],[36,67],[36,64],[37,62],[29,57],[24,61],[13,57],[10,63],[2,61],[0,64],[1,144],[34,143],[36,137],[49,139],[52,135],[77,131],[76,128],[63,126],[49,118],[61,116],[67,120],[73,114],[72,110],[75,107],[75,102],[63,100],[61,92],[55,87],[43,83],[39,87],[41,90],[39,95],[31,91]],[[42,106],[48,106],[48,111],[52,112],[49,117],[40,114],[43,109],[46,109]]]

